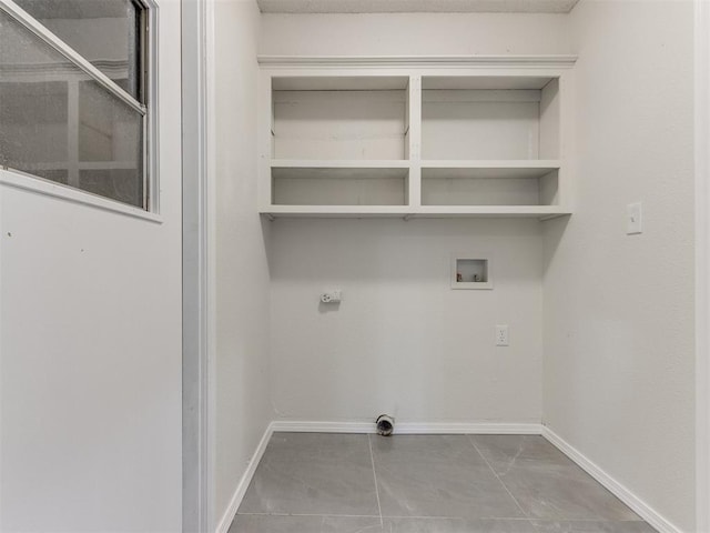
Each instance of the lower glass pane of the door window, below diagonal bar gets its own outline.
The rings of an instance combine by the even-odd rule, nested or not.
[[[1,165],[142,208],[142,145],[141,113],[0,10]]]

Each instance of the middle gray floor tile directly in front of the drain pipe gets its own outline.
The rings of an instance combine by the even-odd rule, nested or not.
[[[465,436],[373,439],[383,516],[525,516]]]

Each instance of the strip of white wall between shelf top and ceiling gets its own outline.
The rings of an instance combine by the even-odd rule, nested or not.
[[[264,14],[264,56],[569,53],[565,14]]]

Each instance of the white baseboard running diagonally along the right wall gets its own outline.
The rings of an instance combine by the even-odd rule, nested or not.
[[[631,510],[636,514],[638,514],[641,519],[648,522],[660,533],[682,533],[682,530],[680,527],[677,527],[671,522],[666,520],[648,503],[646,503],[643,500],[633,494],[629,489],[615,480],[599,465],[587,459],[587,456],[579,452],[579,450],[574,447],[552,430],[544,426],[542,436],[557,449],[559,449],[565,455],[571,459],[575,463],[577,463],[577,465],[579,465],[585,472],[587,472],[595,480],[601,483],[609,492],[611,492],[615,496],[617,496],[629,507],[631,507]]]

